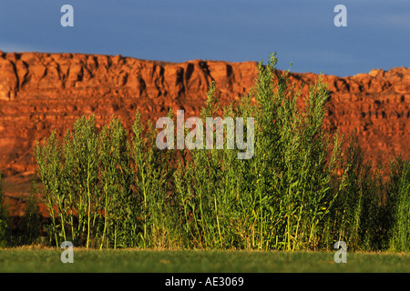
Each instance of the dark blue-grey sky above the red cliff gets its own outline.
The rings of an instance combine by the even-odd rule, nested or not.
[[[62,27],[62,5],[74,27]],[[336,27],[335,5],[347,8]],[[410,64],[410,0],[0,0],[0,50],[184,62],[266,60],[355,75]]]

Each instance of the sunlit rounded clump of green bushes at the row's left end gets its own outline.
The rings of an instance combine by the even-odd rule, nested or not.
[[[113,118],[110,128],[104,126],[98,134],[94,115],[79,118],[61,144],[56,132],[43,146],[37,143],[36,160],[51,216],[48,230],[57,246],[63,240],[87,247],[91,240],[95,246],[97,241],[101,247],[116,246],[118,225],[124,223],[119,206],[127,205],[121,199],[123,191],[130,191],[124,190],[130,180],[127,150],[119,121]]]

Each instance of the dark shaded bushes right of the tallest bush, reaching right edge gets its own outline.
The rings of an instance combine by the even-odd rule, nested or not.
[[[409,162],[397,157],[384,182],[379,168],[364,163],[354,131],[345,151],[346,186],[333,205],[326,223],[327,246],[344,241],[351,250],[408,251],[410,179]]]

